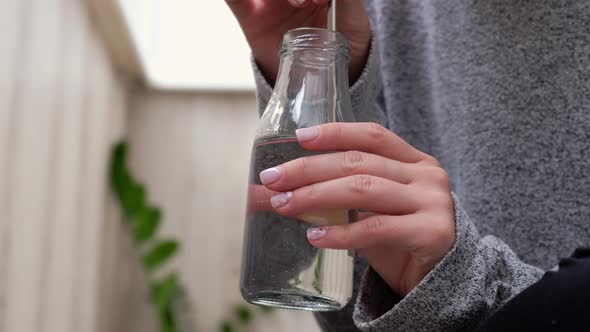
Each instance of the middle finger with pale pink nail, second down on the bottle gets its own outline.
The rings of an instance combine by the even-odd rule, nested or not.
[[[295,159],[262,171],[260,181],[269,189],[281,192],[360,174],[408,184],[419,175],[420,168],[423,167],[375,154],[346,151]]]

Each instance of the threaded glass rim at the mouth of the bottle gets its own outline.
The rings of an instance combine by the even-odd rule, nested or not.
[[[322,51],[342,55],[348,59],[350,47],[340,32],[319,28],[298,28],[287,31],[283,37],[281,56],[302,50]]]

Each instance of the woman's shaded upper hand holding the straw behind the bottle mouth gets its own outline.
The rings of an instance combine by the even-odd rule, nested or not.
[[[285,32],[301,27],[326,27],[329,0],[226,0],[238,19],[262,73],[277,77],[279,48]],[[367,12],[361,0],[338,3],[338,31],[350,43],[349,78],[361,74],[371,39]]]

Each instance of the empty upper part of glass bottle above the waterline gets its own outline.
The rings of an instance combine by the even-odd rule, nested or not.
[[[344,36],[333,31],[303,28],[287,32],[257,140],[293,138],[299,128],[354,121],[348,52]]]

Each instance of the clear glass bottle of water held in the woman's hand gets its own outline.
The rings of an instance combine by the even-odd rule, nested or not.
[[[338,32],[301,28],[284,36],[277,82],[252,149],[240,285],[250,303],[333,311],[344,307],[352,296],[354,255],[346,250],[317,249],[306,236],[311,227],[349,223],[351,212],[280,216],[270,208],[269,191],[259,179],[267,168],[318,154],[297,143],[295,130],[354,121],[348,57],[348,43]]]

